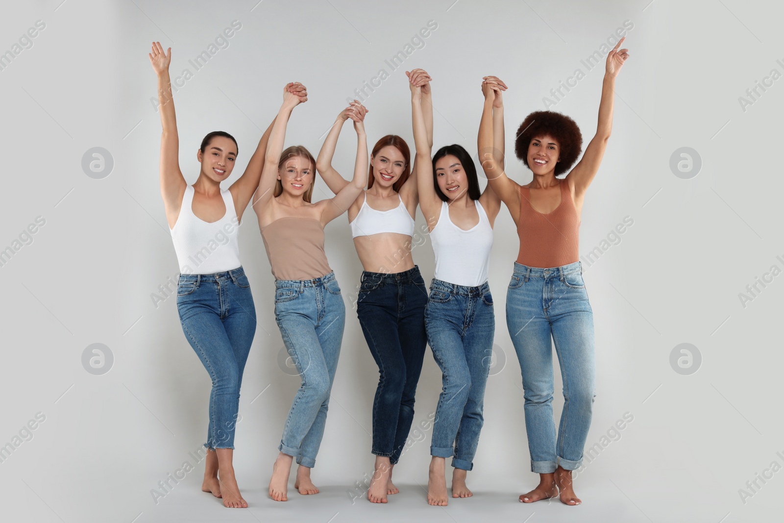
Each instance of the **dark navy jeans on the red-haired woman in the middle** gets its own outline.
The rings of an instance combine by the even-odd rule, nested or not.
[[[362,332],[379,365],[372,453],[397,463],[414,419],[427,343],[427,289],[419,267],[395,274],[364,271],[357,303]]]

